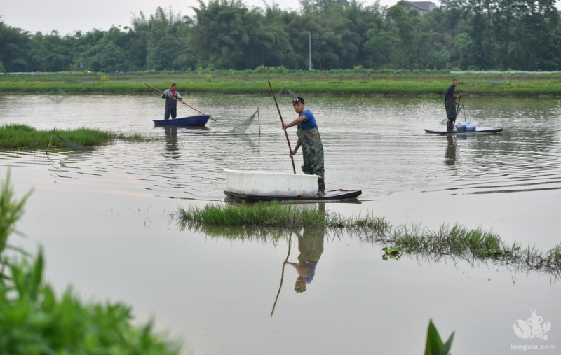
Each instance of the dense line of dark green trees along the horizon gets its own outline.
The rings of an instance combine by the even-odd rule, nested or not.
[[[555,0],[442,0],[419,15],[405,2],[300,0],[298,11],[199,0],[193,16],[156,8],[130,26],[60,36],[0,18],[0,71],[217,69],[557,70]],[[83,67],[80,64],[83,63]]]

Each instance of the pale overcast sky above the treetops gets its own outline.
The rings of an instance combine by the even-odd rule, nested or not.
[[[273,4],[273,0],[265,0]],[[263,0],[245,0],[249,6],[264,7]],[[276,1],[280,8],[299,8],[298,0]],[[396,4],[398,0],[381,0],[383,6]],[[374,4],[374,0],[363,1],[365,5]],[[205,0],[208,4],[208,0]],[[438,4],[438,3],[437,3]],[[50,33],[57,30],[59,34],[72,33],[76,30],[83,32],[90,29],[109,29],[111,25],[130,25],[131,14],[144,15],[154,13],[158,6],[163,8],[173,7],[175,13],[181,11],[182,15],[194,15],[191,6],[198,7],[196,0],[94,0],[94,1],[69,1],[69,0],[27,0],[8,1],[2,0],[0,15],[4,23],[11,27],[20,27],[35,33]]]

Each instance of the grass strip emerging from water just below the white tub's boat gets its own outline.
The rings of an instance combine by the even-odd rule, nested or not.
[[[493,260],[515,265],[523,270],[561,272],[561,244],[543,253],[534,247],[522,248],[516,242],[503,242],[494,232],[482,228],[467,229],[459,224],[442,225],[438,230],[420,225],[393,226],[383,217],[343,217],[329,211],[299,209],[291,204],[257,203],[251,206],[208,204],[205,207],[180,207],[177,218],[181,228],[190,228],[210,235],[238,238],[260,237],[271,241],[297,228],[345,230],[367,242],[391,246],[394,253],[432,254],[464,260]],[[271,228],[273,227],[273,228]],[[234,228],[234,230],[230,230]],[[261,229],[260,229],[261,228]],[[273,229],[271,232],[262,228]],[[273,240],[272,240],[273,241]],[[274,242],[274,241],[273,241]]]

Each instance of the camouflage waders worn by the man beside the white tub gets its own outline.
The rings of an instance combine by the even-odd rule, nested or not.
[[[323,169],[323,144],[321,143],[318,127],[304,130],[298,125],[296,132],[302,146],[302,172],[308,175],[318,175],[318,191],[325,192],[325,171]]]

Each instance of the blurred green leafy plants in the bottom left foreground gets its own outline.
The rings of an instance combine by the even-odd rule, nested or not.
[[[58,298],[43,279],[42,251],[33,260],[2,255],[29,193],[15,200],[9,171],[0,193],[0,354],[179,354],[150,323],[133,326],[126,305],[83,304],[70,289]]]

